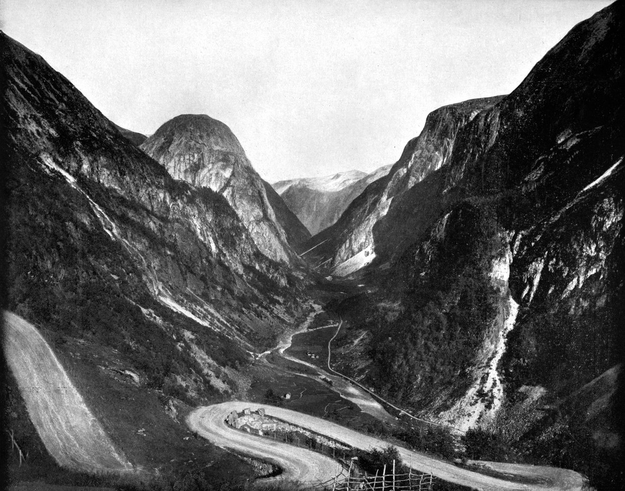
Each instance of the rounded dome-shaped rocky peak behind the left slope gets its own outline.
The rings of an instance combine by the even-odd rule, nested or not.
[[[159,127],[141,149],[174,179],[226,198],[267,257],[281,262],[297,260],[287,236],[299,239],[301,227],[291,219],[284,225],[294,224],[293,230],[284,231],[261,177],[226,124],[205,114],[182,114]]]

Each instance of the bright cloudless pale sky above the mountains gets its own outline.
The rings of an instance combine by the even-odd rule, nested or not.
[[[512,91],[607,0],[2,0],[120,126],[226,123],[274,182],[395,162],[427,113]]]

